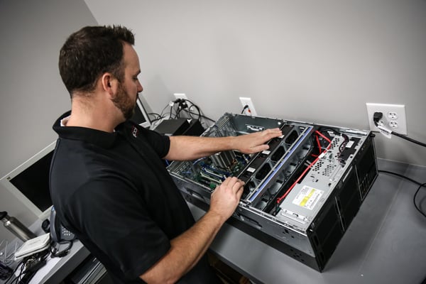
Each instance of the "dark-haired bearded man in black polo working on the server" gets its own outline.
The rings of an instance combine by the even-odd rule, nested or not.
[[[239,204],[244,182],[224,180],[194,222],[161,158],[256,153],[281,132],[169,138],[132,124],[143,90],[133,44],[128,29],[97,26],[62,46],[60,75],[72,108],[53,126],[59,135],[50,170],[53,204],[116,283],[217,283],[204,253]]]

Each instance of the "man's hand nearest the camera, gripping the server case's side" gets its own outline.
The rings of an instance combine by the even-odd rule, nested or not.
[[[210,212],[223,218],[225,222],[234,213],[244,190],[244,182],[238,178],[226,178],[216,187],[210,197]]]

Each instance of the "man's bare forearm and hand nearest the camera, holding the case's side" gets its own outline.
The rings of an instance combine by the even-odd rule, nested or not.
[[[227,178],[212,193],[210,209],[190,229],[170,241],[171,248],[140,277],[146,283],[175,283],[191,270],[207,251],[226,219],[239,204],[244,182]]]

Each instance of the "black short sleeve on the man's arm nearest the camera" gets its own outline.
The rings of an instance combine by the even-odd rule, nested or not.
[[[75,222],[125,275],[137,278],[170,249],[143,199],[119,178],[92,180],[74,199],[70,210]]]

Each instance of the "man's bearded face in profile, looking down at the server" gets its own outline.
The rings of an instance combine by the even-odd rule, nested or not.
[[[141,72],[139,59],[136,51],[128,43],[124,44],[124,80],[119,83],[116,97],[112,100],[114,105],[121,110],[124,119],[130,119],[133,116],[136,107],[138,93],[142,92],[143,87],[138,80],[138,74]]]

